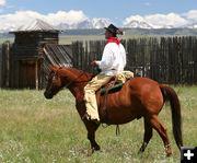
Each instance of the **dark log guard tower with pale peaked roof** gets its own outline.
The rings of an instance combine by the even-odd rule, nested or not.
[[[58,45],[59,31],[42,20],[34,20],[12,33],[15,38],[10,54],[10,86],[38,90],[43,80],[43,46]]]

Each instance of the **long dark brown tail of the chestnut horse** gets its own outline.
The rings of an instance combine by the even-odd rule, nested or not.
[[[181,104],[176,92],[167,86],[167,85],[160,85],[162,91],[164,101],[170,101],[171,104],[171,113],[172,113],[172,128],[174,139],[178,149],[183,147],[183,138],[182,138],[182,115],[181,115]]]

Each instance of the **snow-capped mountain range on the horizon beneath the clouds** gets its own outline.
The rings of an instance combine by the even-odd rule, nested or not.
[[[22,22],[24,23],[24,22]],[[12,24],[12,23],[5,23],[0,24],[0,33],[7,33],[12,31],[18,31],[20,26],[25,25],[24,24]],[[65,30],[83,30],[83,28],[103,28],[111,24],[112,22],[108,19],[85,19],[81,22],[70,23],[70,22],[63,22],[55,26],[56,30],[65,31]],[[53,26],[53,24],[50,24]],[[126,28],[197,28],[197,22],[188,23],[182,26],[173,26],[173,25],[157,25],[157,24],[150,24],[146,21],[141,20],[131,20],[128,21],[126,24],[119,27],[126,27]]]

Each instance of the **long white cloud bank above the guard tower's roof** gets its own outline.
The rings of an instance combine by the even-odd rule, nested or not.
[[[40,14],[35,11],[16,11],[10,14],[0,14],[0,31],[13,31],[20,26],[30,23],[30,21],[40,19],[47,23],[56,26],[60,23],[67,23],[69,25],[80,23],[86,19],[82,11],[58,11],[56,13]]]

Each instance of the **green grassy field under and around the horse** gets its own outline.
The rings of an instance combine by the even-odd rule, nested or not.
[[[197,145],[197,86],[175,88],[182,103],[185,145]],[[0,90],[0,162],[3,163],[178,163],[179,152],[172,136],[171,112],[165,105],[160,119],[170,136],[173,155],[165,158],[158,133],[146,152],[138,155],[143,137],[142,119],[120,126],[99,128],[101,152],[88,156],[86,130],[67,90],[53,100],[43,91]]]

